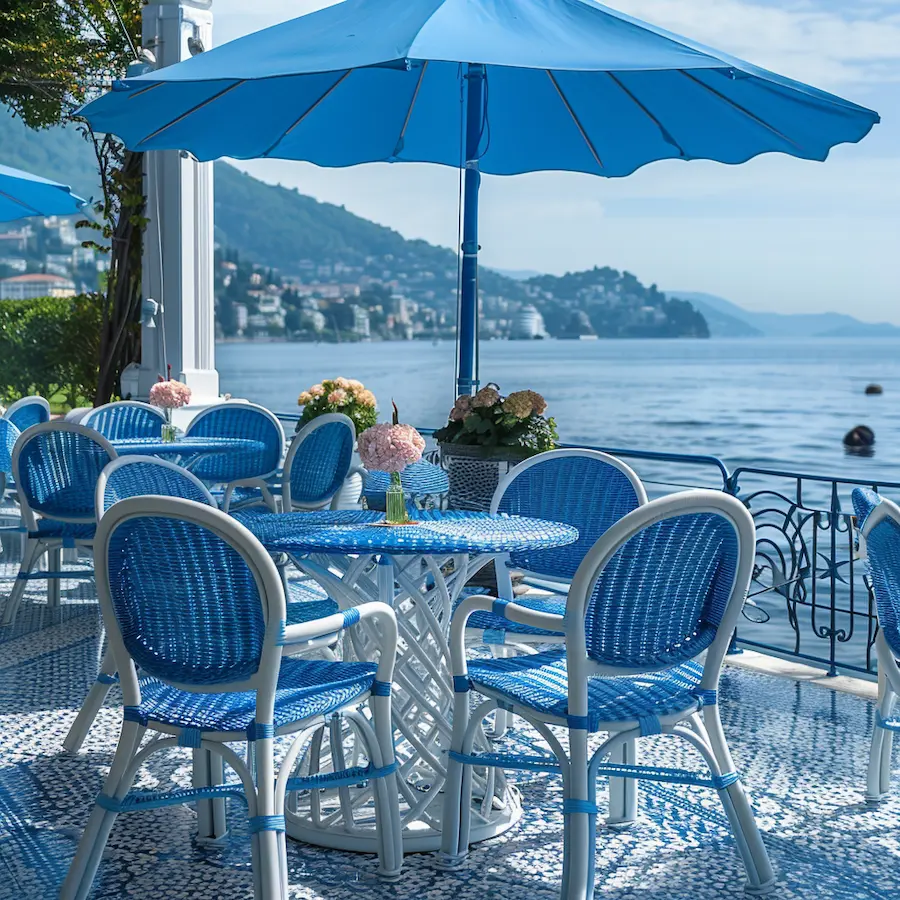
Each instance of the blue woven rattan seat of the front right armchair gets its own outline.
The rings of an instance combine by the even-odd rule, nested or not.
[[[665,672],[588,680],[588,730],[599,722],[629,722],[699,709],[703,666],[682,663]],[[473,689],[502,696],[542,716],[566,719],[568,675],[563,648],[507,659],[471,660]]]

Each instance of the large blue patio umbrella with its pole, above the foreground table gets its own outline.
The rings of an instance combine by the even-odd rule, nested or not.
[[[480,173],[824,160],[871,110],[593,0],[345,0],[117,82],[82,113],[132,150],[465,169],[460,392],[477,374]]]

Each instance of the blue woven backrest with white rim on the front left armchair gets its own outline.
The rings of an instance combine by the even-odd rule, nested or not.
[[[139,697],[132,660],[194,690],[269,688],[274,702],[284,591],[246,528],[191,500],[132,497],[100,520],[94,562],[126,706]]]

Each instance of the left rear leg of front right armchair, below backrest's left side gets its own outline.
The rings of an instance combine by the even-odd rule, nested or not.
[[[592,900],[593,842],[596,817],[588,812],[594,791],[588,785],[587,731],[569,729],[569,779],[564,785],[563,900]],[[572,808],[577,805],[581,809]]]

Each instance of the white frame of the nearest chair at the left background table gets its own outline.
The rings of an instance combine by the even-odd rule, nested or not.
[[[19,509],[22,514],[22,524],[25,526],[25,529],[29,532],[29,535],[25,540],[24,553],[22,555],[22,564],[19,570],[20,576],[16,579],[15,584],[13,585],[12,591],[10,591],[9,597],[6,601],[6,606],[3,610],[3,625],[11,625],[16,618],[16,613],[19,610],[19,605],[22,602],[22,596],[25,593],[25,585],[27,576],[31,575],[34,571],[34,567],[37,565],[38,560],[44,553],[48,554],[48,564],[47,564],[47,599],[51,608],[58,607],[60,603],[60,572],[62,570],[62,548],[63,548],[63,540],[62,538],[57,537],[31,537],[30,534],[36,534],[38,529],[38,519],[45,518],[52,521],[57,522],[74,522],[79,524],[84,524],[88,522],[96,522],[96,518],[91,516],[91,518],[71,518],[67,516],[48,516],[43,514],[35,514],[35,511],[31,508],[28,503],[28,498],[25,496],[25,491],[22,489],[22,478],[21,473],[19,471],[19,458],[22,455],[23,448],[38,435],[43,434],[48,431],[71,431],[77,434],[81,434],[86,437],[88,440],[93,441],[95,444],[98,444],[109,456],[110,461],[113,461],[118,458],[115,448],[109,441],[106,440],[102,435],[98,434],[94,431],[93,428],[85,428],[83,425],[76,425],[73,422],[64,422],[60,420],[55,420],[51,422],[43,422],[40,425],[32,425],[30,428],[26,428],[25,431],[19,435],[19,439],[16,441],[15,446],[13,447],[13,455],[12,455],[12,469],[13,469],[13,478],[16,482],[17,488],[17,499],[19,502]],[[86,550],[91,550],[93,547],[93,539],[85,540],[85,539],[75,539],[73,540],[73,544],[76,548],[83,548]]]

